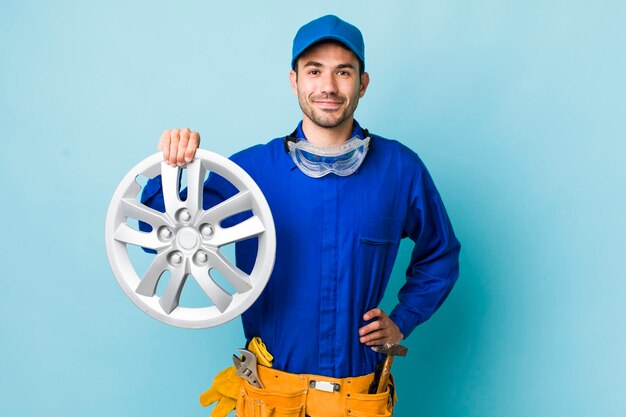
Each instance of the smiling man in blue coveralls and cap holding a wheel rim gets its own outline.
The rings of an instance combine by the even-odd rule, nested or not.
[[[296,34],[291,64],[302,122],[291,135],[232,157],[263,191],[277,233],[272,276],[242,322],[248,343],[260,337],[273,355],[276,380],[295,375],[313,383],[271,386],[262,374],[265,391],[237,386],[237,413],[252,415],[254,404],[283,412],[301,404],[312,416],[343,415],[341,407],[388,415],[387,394],[373,402],[367,390],[348,385],[371,382],[381,360],[371,346],[400,342],[441,305],[458,277],[460,245],[418,156],[354,119],[370,82],[361,32],[336,16],[309,22]],[[166,130],[159,149],[182,166],[199,142],[189,129]],[[217,178],[205,187],[205,207],[233,193]],[[157,178],[143,201],[158,208],[159,193]],[[415,248],[399,304],[387,315],[378,304],[404,237]],[[238,243],[236,254],[249,272],[256,242]],[[324,378],[341,388],[321,396],[315,381]],[[224,391],[227,379],[216,378],[211,392]],[[281,402],[287,397],[295,400]]]

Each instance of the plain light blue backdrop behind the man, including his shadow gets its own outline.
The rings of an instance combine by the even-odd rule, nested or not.
[[[141,313],[109,199],[164,128],[225,155],[289,133],[293,35],[332,12],[365,36],[357,119],[421,155],[463,243],[396,415],[625,416],[624,4],[0,1],[0,415],[208,415],[239,322]]]

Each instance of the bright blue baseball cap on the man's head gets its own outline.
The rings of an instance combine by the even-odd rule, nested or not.
[[[296,60],[305,49],[324,40],[335,40],[344,44],[361,61],[361,70],[365,70],[365,44],[361,31],[331,14],[312,20],[298,30],[293,39],[291,68],[295,69]]]

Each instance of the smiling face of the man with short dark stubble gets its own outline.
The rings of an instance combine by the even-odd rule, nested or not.
[[[307,49],[291,71],[291,88],[298,96],[305,124],[326,129],[352,128],[354,111],[369,84],[359,74],[359,59],[336,42],[320,42]]]

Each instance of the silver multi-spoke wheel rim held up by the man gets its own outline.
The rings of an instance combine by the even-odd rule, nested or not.
[[[128,172],[115,191],[107,212],[105,241],[113,274],[126,295],[141,310],[164,323],[185,328],[208,328],[226,323],[246,311],[259,297],[274,267],[276,233],[269,205],[254,180],[237,164],[213,152],[199,149],[187,165],[188,195],[178,195],[182,168],[163,162],[161,152],[141,161]],[[203,185],[207,171],[214,172],[239,191],[224,202],[204,210]],[[141,186],[136,178],[161,175],[165,213],[137,201]],[[220,222],[251,211],[252,217],[232,227]],[[127,224],[141,220],[152,226],[140,232]],[[133,221],[134,221],[133,220]],[[248,238],[258,238],[258,251],[248,275],[227,259],[219,248]],[[139,277],[128,253],[128,245],[154,249],[157,255],[143,277]],[[216,269],[235,289],[230,294],[210,276]],[[156,287],[165,271],[170,279],[158,296]],[[193,277],[208,297],[206,307],[178,305],[183,286]]]

